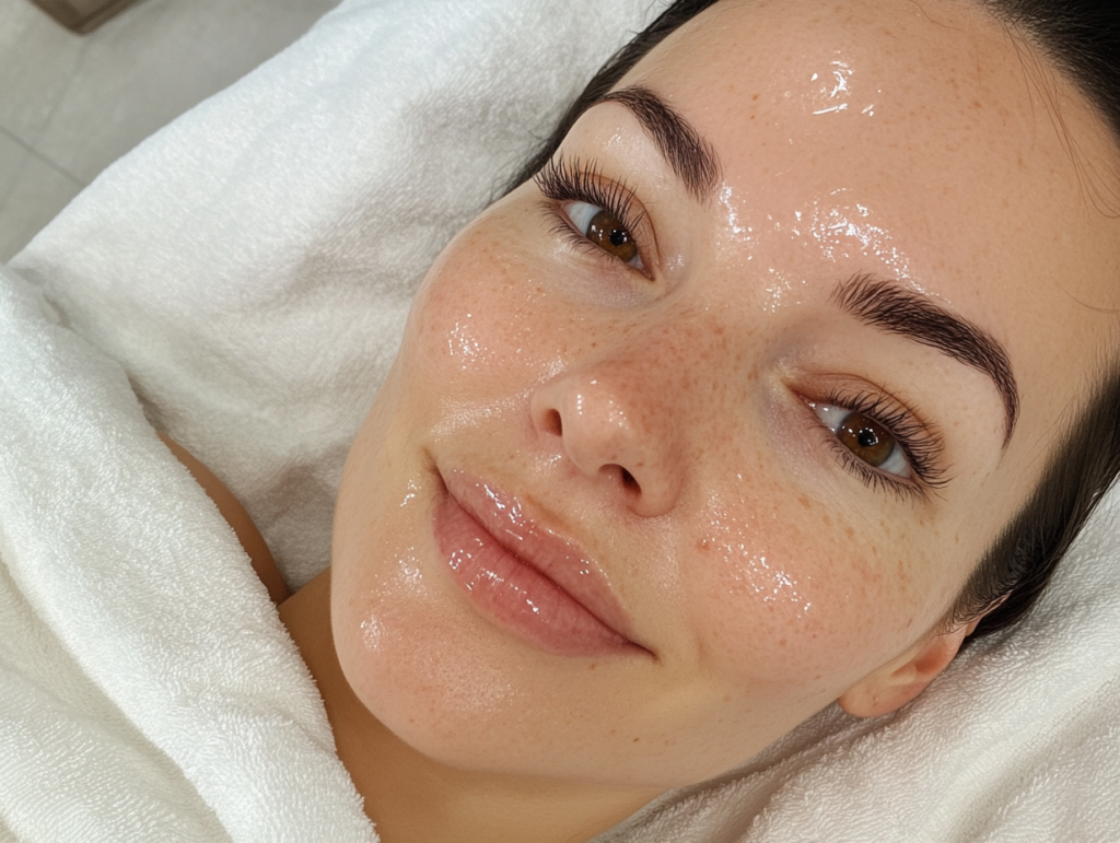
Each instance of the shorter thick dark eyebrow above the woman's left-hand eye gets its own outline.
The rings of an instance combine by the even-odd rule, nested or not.
[[[604,94],[597,103],[604,102],[631,110],[693,197],[706,202],[711,196],[720,171],[716,150],[664,100],[650,88],[635,85]]]

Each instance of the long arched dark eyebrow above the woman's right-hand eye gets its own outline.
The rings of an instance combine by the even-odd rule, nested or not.
[[[923,296],[871,275],[844,281],[832,301],[867,325],[936,348],[988,375],[1004,400],[1007,446],[1019,416],[1019,391],[1007,352],[995,337]]]

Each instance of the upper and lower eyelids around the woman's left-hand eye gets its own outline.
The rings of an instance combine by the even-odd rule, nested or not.
[[[591,254],[613,266],[622,264],[645,278],[653,278],[660,264],[657,238],[648,214],[625,181],[605,177],[595,161],[585,166],[578,158],[572,158],[569,165],[560,153],[533,176],[533,181],[541,194],[554,203],[548,205],[548,209],[578,238],[575,242],[580,247],[589,247]],[[569,202],[587,203],[613,214],[634,235],[642,266],[625,264],[587,240],[562,208]]]

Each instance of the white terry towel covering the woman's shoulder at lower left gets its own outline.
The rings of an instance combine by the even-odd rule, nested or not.
[[[0,834],[373,841],[233,532],[0,268]]]

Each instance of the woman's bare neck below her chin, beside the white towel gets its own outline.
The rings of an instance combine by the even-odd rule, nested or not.
[[[577,843],[656,794],[463,770],[401,741],[351,690],[330,633],[329,569],[280,606],[323,695],[335,747],[383,843]]]

